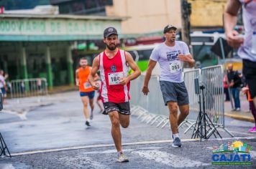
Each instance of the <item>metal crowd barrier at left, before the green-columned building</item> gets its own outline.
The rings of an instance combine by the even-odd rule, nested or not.
[[[15,79],[10,85],[11,98],[47,95],[45,78]]]

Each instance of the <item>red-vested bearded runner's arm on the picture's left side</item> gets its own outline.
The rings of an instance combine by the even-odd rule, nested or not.
[[[95,57],[93,59],[93,65],[91,67],[91,73],[89,74],[88,77],[88,81],[91,84],[91,86],[93,87],[94,90],[98,90],[99,89],[99,83],[98,82],[94,82],[94,79],[97,78],[97,72],[99,69],[99,55],[97,57]]]

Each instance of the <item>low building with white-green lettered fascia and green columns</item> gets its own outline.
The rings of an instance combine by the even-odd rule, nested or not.
[[[79,42],[102,41],[107,26],[115,26],[121,33],[121,20],[104,16],[1,14],[0,69],[11,80],[45,77],[49,87],[74,84],[78,60],[74,49]]]

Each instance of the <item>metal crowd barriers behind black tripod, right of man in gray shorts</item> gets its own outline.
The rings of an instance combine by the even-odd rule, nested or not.
[[[198,78],[200,85],[204,85],[205,95],[205,112],[213,122],[215,127],[223,128],[232,137],[231,132],[225,128],[224,120],[224,87],[223,87],[224,71],[221,65],[212,67],[204,67],[203,69],[193,69],[184,72],[184,82],[188,90],[190,113],[186,120],[179,127],[187,125],[185,131],[193,129],[196,125],[196,117],[198,117],[199,104],[198,95],[195,92],[194,79]],[[201,91],[200,91],[201,92]]]

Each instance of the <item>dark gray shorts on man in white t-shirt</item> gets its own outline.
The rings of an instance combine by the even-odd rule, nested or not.
[[[188,91],[185,83],[175,83],[168,81],[160,81],[160,87],[163,94],[165,105],[168,102],[178,102],[178,105],[188,105]]]

